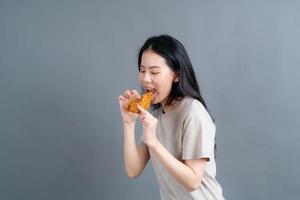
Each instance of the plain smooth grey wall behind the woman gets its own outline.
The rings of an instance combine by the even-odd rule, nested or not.
[[[298,199],[300,1],[0,1],[0,199],[159,199],[123,169],[117,96],[137,52],[187,48],[232,200]],[[140,130],[140,128],[138,128]],[[137,133],[139,136],[140,133]]]

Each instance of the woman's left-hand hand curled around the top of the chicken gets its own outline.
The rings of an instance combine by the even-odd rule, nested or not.
[[[138,115],[127,111],[127,106],[132,98],[141,98],[141,95],[136,90],[126,90],[122,95],[119,96],[119,104],[121,110],[121,116],[123,122],[132,123],[135,122]]]

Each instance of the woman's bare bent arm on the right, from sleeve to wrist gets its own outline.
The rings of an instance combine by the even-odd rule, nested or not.
[[[200,186],[208,159],[202,158],[181,162],[170,154],[159,141],[152,143],[148,148],[188,191],[191,192]]]

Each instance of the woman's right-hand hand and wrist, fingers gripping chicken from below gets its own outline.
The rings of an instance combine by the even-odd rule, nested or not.
[[[158,141],[156,137],[157,119],[142,106],[138,105],[137,108],[140,111],[139,119],[143,126],[143,142],[148,146],[155,145]]]

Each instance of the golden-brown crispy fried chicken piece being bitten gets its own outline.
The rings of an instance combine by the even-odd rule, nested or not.
[[[141,99],[133,98],[128,103],[127,111],[133,113],[139,113],[139,110],[137,109],[138,104],[141,105],[145,110],[148,110],[150,108],[152,99],[153,99],[152,92],[146,92],[145,94],[143,94]]]

